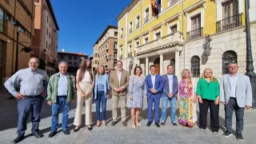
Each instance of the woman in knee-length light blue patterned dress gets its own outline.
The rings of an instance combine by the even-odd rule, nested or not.
[[[130,107],[132,127],[141,126],[138,122],[138,114],[143,107],[143,97],[146,96],[145,78],[141,76],[142,68],[135,66],[134,76],[130,78],[129,91],[127,94],[127,107]]]

